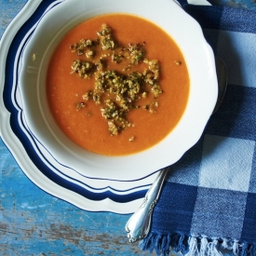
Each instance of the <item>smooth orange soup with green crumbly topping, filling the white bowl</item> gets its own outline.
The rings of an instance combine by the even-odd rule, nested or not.
[[[100,155],[134,154],[162,141],[182,118],[189,88],[173,39],[154,23],[127,14],[101,15],[76,26],[55,49],[47,71],[47,100],[57,124]]]

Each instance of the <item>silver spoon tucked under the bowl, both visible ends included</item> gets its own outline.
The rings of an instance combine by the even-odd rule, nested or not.
[[[226,66],[218,57],[215,58],[215,63],[219,96],[213,110],[213,114],[219,109],[227,87]],[[148,235],[151,226],[153,209],[155,208],[155,204],[159,198],[167,174],[168,168],[163,168],[159,171],[155,182],[153,182],[152,186],[145,195],[141,207],[129,218],[126,224],[126,231],[128,233],[128,239],[130,242],[143,239]]]

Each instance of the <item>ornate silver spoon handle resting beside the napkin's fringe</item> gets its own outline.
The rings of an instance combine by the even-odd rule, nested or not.
[[[159,171],[155,182],[145,195],[141,207],[129,218],[126,225],[126,231],[130,242],[143,239],[148,235],[153,209],[155,208],[155,204],[159,198],[167,174],[168,168],[163,168]]]

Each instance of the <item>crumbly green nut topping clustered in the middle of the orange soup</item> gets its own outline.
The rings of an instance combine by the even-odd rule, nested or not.
[[[158,97],[163,93],[159,82],[160,64],[146,59],[145,42],[121,46],[112,29],[103,24],[96,39],[82,39],[71,46],[71,50],[79,57],[71,66],[71,74],[94,78],[94,88],[87,90],[85,84],[84,104],[77,103],[76,109],[82,110],[86,108],[86,101],[94,101],[111,135],[134,126],[128,120],[130,111],[156,112]],[[109,68],[110,63],[112,67],[116,65],[116,70]],[[147,103],[141,105],[141,99]],[[129,139],[133,140],[134,137]]]

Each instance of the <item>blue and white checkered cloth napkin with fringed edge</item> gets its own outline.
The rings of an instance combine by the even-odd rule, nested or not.
[[[226,63],[218,112],[170,167],[141,249],[167,255],[256,255],[256,12],[183,5]],[[193,125],[193,124],[192,124]]]

